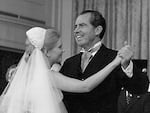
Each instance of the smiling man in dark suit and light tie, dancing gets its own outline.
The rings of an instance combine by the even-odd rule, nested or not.
[[[75,22],[74,35],[82,52],[67,59],[60,72],[66,76],[84,80],[108,65],[117,55],[117,51],[105,47],[101,40],[106,23],[103,16],[92,10],[83,11]],[[82,62],[85,53],[90,52],[86,67]],[[89,93],[66,93],[64,103],[69,113],[117,113],[117,100],[121,87],[133,93],[143,93],[148,88],[147,76],[133,66],[130,46],[120,52],[122,66],[118,66],[104,81]]]

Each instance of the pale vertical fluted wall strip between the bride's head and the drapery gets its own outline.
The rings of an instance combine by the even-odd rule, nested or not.
[[[63,61],[71,56],[72,0],[47,0],[46,25],[55,27],[61,34]]]

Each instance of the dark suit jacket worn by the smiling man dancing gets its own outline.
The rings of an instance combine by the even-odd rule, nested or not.
[[[60,72],[66,76],[86,79],[109,64],[116,56],[117,51],[101,46],[88,64],[85,71],[81,71],[81,53],[67,59]],[[142,76],[135,68],[134,75],[129,79],[118,66],[109,76],[94,90],[89,93],[66,93],[64,103],[69,113],[116,113],[117,99],[124,86],[134,93],[143,93],[148,88],[148,78]]]

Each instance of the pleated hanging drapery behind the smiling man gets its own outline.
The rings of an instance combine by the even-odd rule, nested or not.
[[[134,59],[148,59],[150,70],[149,0],[73,0],[73,23],[85,9],[98,10],[105,17],[107,30],[103,42],[107,47],[120,49],[127,41],[133,47]],[[72,51],[79,51],[74,39]]]

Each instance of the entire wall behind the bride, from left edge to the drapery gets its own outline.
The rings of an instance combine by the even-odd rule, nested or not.
[[[72,0],[1,0],[0,46],[24,50],[25,32],[33,26],[56,28],[71,55]]]

